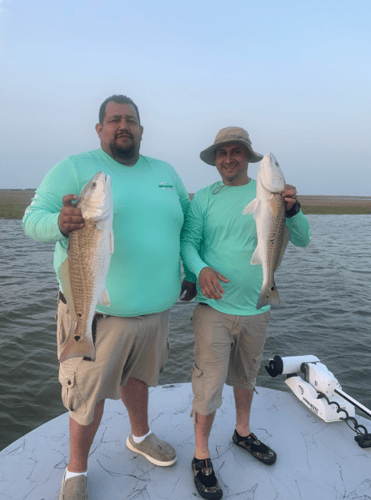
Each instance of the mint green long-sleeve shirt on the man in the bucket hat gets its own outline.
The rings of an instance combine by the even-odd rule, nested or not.
[[[230,280],[221,282],[225,293],[219,300],[206,298],[197,281],[196,302],[241,316],[270,309],[256,309],[263,282],[262,266],[250,263],[257,246],[256,224],[252,214],[242,214],[255,197],[254,179],[244,186],[227,186],[219,181],[195,194],[182,233],[183,262],[197,277],[204,267],[211,267]],[[286,219],[286,225],[294,245],[308,245],[309,222],[301,211]]]

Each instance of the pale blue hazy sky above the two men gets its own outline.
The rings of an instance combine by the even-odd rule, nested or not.
[[[0,0],[0,188],[98,148],[124,94],[141,153],[189,192],[219,180],[199,154],[236,125],[299,194],[370,196],[370,19],[369,0]]]

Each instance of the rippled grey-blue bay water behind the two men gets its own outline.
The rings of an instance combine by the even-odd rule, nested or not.
[[[312,241],[289,245],[276,273],[280,308],[271,309],[258,385],[288,390],[264,369],[275,354],[314,354],[345,392],[371,409],[371,216],[309,215]],[[0,450],[65,412],[55,346],[54,245],[0,220]],[[194,303],[170,315],[170,355],[160,384],[189,382]],[[299,403],[298,403],[299,404]],[[371,423],[369,432],[371,431]]]

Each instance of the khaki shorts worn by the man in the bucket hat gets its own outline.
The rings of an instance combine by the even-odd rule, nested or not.
[[[192,318],[192,414],[210,415],[219,408],[225,383],[254,389],[269,320],[269,312],[237,316],[198,304]]]

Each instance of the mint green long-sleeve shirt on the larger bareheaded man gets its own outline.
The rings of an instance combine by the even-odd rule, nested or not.
[[[190,202],[168,163],[140,155],[126,167],[101,149],[66,158],[37,189],[23,217],[24,231],[56,243],[54,268],[61,285],[59,267],[68,248],[68,237],[58,227],[62,198],[79,195],[101,170],[112,179],[114,253],[106,281],[111,305],[98,305],[97,311],[138,316],[169,309],[181,289],[180,233]]]

